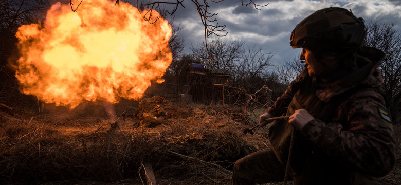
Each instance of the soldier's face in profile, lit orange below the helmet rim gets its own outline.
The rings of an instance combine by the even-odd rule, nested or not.
[[[318,62],[316,56],[311,51],[303,48],[299,59],[305,60],[305,63],[308,64],[309,76],[320,77],[322,75],[324,67]]]

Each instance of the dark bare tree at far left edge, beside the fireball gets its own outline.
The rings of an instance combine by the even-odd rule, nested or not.
[[[15,70],[8,61],[15,62],[17,39],[15,32],[23,24],[43,20],[49,7],[47,0],[2,0],[0,1],[0,103],[28,98],[19,95],[18,80]],[[10,57],[10,55],[12,57]],[[28,98],[29,99],[29,98]]]

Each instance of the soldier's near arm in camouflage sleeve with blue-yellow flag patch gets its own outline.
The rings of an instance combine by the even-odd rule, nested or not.
[[[395,165],[395,141],[384,98],[368,91],[353,95],[338,114],[348,123],[309,121],[302,132],[327,155],[370,176],[388,174]],[[341,113],[342,112],[342,113]]]

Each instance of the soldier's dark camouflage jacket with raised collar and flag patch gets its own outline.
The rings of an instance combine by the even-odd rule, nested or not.
[[[294,131],[290,167],[295,184],[374,184],[373,177],[392,170],[395,141],[377,68],[382,56],[377,49],[361,49],[359,70],[330,84],[316,84],[305,68],[267,110],[281,116],[306,109],[315,118]],[[272,150],[283,164],[292,131],[288,121],[269,128]]]

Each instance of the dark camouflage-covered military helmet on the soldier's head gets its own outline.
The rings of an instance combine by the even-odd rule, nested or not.
[[[317,51],[353,52],[366,38],[362,18],[339,7],[318,10],[302,20],[293,30],[290,45]]]

